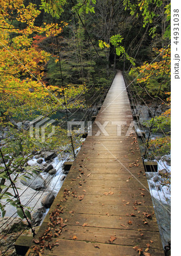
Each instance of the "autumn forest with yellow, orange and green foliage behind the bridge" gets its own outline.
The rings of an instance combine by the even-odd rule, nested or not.
[[[26,121],[78,109],[89,118],[89,109],[106,95],[114,70],[121,69],[142,104],[159,100],[166,106],[147,125],[155,131],[170,127],[170,1],[0,0],[0,8],[1,160],[6,162],[6,168],[0,167],[0,192],[23,217],[6,180],[15,174],[15,183],[36,152],[53,148],[60,153],[70,139],[78,144],[60,122],[52,137],[49,125],[44,139],[37,139]],[[150,143],[168,154],[170,133]],[[28,209],[26,214],[30,217]]]

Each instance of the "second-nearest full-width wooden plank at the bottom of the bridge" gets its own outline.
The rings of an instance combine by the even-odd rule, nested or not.
[[[40,234],[45,232],[46,229],[47,224],[44,223],[41,226],[41,232],[37,233],[36,237],[39,237]],[[159,232],[95,228],[91,226],[81,226],[80,224],[66,226],[66,229],[62,231],[59,239],[70,240],[70,238],[73,238],[75,234],[78,241],[90,241],[109,244],[110,237],[115,236],[117,239],[113,243],[116,245],[135,245],[145,247],[146,243],[150,243],[152,249],[159,249],[161,246],[159,243],[160,240],[158,239]]]

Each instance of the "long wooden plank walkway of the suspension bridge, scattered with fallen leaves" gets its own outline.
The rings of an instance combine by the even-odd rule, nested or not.
[[[95,121],[27,255],[164,255],[121,72]]]

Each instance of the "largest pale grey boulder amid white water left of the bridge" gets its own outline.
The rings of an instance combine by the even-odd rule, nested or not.
[[[46,185],[45,185],[45,180],[43,179],[43,177],[40,176],[40,174],[37,171],[30,171],[33,170],[33,167],[26,167],[26,176],[28,177],[24,177],[24,179],[21,179],[21,183],[23,185],[26,185],[27,187],[30,186],[30,188],[35,189],[35,190],[40,190],[40,189],[45,189]],[[29,172],[29,173],[27,173]]]

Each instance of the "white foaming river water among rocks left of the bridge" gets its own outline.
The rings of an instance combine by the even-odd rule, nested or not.
[[[85,141],[85,139],[81,139],[81,142]],[[75,155],[78,154],[79,150],[81,149],[81,147],[78,147],[75,149]],[[20,182],[20,179],[18,178],[16,180],[16,187],[18,188],[18,193],[20,196],[20,201],[23,205],[25,205],[26,207],[30,207],[31,213],[33,214],[33,212],[36,212],[37,209],[43,207],[41,205],[41,200],[43,199],[44,196],[46,196],[48,193],[52,192],[54,196],[57,195],[58,191],[60,191],[60,188],[62,187],[62,184],[64,183],[65,177],[66,175],[63,173],[63,164],[64,162],[66,162],[68,159],[70,159],[71,156],[65,156],[64,159],[59,158],[59,156],[57,156],[56,158],[53,159],[52,161],[52,166],[53,168],[56,170],[56,174],[54,175],[50,175],[47,172],[40,172],[40,176],[42,176],[45,179],[47,188],[44,191],[36,191],[30,187],[27,187],[26,185],[23,185]],[[31,160],[28,160],[28,165],[29,166],[39,166],[40,164],[37,163],[37,159],[35,157],[33,157]],[[44,158],[43,158],[43,162],[41,163],[44,164],[46,163]],[[22,174],[23,175],[23,174]],[[22,175],[19,175],[22,176]],[[11,175],[12,179],[14,179],[15,175],[12,174]],[[10,182],[7,181],[6,185],[10,185]],[[9,192],[14,195],[14,191],[12,188],[9,189]],[[13,198],[12,198],[13,199]],[[6,199],[1,200],[2,204],[6,204]],[[16,214],[16,208],[13,207],[11,204],[6,204],[5,207],[6,210],[6,214],[5,216],[7,217],[19,217],[18,214]],[[46,210],[44,217],[46,216],[46,214],[48,213],[48,210]]]

